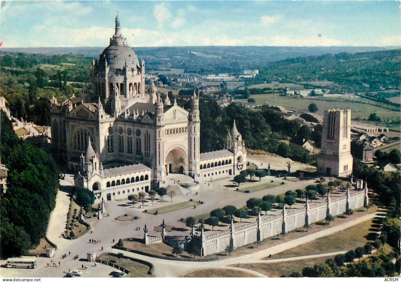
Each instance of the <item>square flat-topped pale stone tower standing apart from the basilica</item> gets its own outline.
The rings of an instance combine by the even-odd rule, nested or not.
[[[348,177],[352,173],[350,124],[351,110],[324,111],[319,173],[336,177]]]

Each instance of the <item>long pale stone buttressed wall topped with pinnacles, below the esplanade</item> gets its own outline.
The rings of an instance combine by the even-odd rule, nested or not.
[[[193,239],[197,241],[197,245],[200,247],[201,256],[224,252],[225,248],[229,245],[232,245],[233,248],[238,248],[301,228],[306,224],[309,225],[313,222],[324,220],[328,214],[335,216],[342,214],[346,209],[367,206],[369,203],[367,191],[366,185],[365,189],[352,191],[353,193],[347,189],[345,196],[334,199],[328,197],[326,203],[315,203],[312,205],[306,203],[304,208],[290,212],[286,212],[284,208],[281,215],[264,220],[261,220],[259,214],[256,222],[236,228],[231,223],[230,230],[209,236],[205,236],[202,230],[201,236],[194,236]]]

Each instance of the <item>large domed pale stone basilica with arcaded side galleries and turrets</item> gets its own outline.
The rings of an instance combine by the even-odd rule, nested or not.
[[[122,36],[120,20],[110,44],[92,63],[93,91],[59,103],[51,99],[52,148],[75,185],[96,201],[126,199],[167,185],[170,173],[194,181],[236,175],[246,168],[246,149],[235,121],[225,149],[200,153],[199,100],[187,111],[145,87],[145,62]]]

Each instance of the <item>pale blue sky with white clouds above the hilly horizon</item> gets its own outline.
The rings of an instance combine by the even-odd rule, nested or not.
[[[107,46],[118,11],[130,46],[400,46],[396,1],[16,1],[4,47]],[[318,36],[321,34],[321,36]]]

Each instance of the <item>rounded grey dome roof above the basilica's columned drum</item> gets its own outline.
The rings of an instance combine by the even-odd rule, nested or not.
[[[107,64],[110,66],[110,72],[115,69],[123,69],[126,62],[128,70],[131,68],[136,70],[136,66],[140,66],[138,56],[126,43],[118,43],[115,45],[110,44],[103,50],[99,57],[100,66],[104,65],[105,59],[107,60]]]

